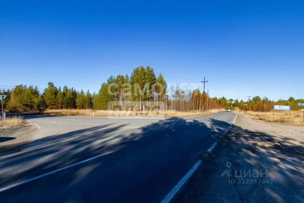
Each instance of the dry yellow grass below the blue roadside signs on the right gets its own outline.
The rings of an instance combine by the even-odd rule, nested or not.
[[[280,110],[275,110],[274,115],[273,115],[273,111],[258,112],[258,111],[237,110],[237,112],[243,113],[243,114],[248,114],[248,115],[251,115],[254,117],[258,117],[258,118],[261,118],[263,121],[267,121],[267,122],[282,123],[282,124],[286,124],[286,125],[304,126],[302,110],[291,110],[290,115],[289,115],[289,111],[280,111]]]

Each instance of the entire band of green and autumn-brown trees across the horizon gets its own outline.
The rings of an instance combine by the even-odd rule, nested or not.
[[[37,86],[17,85],[13,89],[1,90],[7,95],[4,108],[9,112],[29,112],[46,109],[96,109],[96,110],[177,110],[204,111],[216,108],[239,107],[242,110],[270,111],[273,105],[291,105],[299,109],[297,103],[304,100],[288,100],[276,102],[255,96],[248,103],[238,99],[209,96],[209,91],[203,93],[199,89],[189,90],[180,86],[171,86],[160,73],[155,75],[150,66],[138,66],[129,75],[110,76],[103,82],[98,93],[77,91],[73,87],[57,88],[53,82],[48,82],[47,88],[40,93]]]

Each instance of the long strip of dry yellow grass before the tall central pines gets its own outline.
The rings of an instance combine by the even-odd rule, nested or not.
[[[129,111],[129,116],[139,116],[139,117],[186,117],[186,116],[198,116],[198,115],[207,115],[212,113],[217,113],[225,109],[211,109],[204,112],[197,111]],[[126,117],[128,111],[113,111],[113,110],[78,110],[78,109],[61,109],[61,110],[47,110],[44,114],[48,115],[57,115],[57,116],[94,116],[96,117]]]

